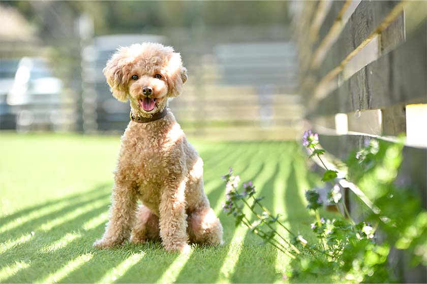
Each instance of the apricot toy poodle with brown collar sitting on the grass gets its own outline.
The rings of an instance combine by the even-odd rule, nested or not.
[[[187,81],[180,54],[157,43],[121,47],[103,72],[113,96],[130,100],[131,121],[121,137],[109,222],[94,245],[161,240],[166,250],[182,252],[189,242],[221,244],[203,161],[167,108]]]

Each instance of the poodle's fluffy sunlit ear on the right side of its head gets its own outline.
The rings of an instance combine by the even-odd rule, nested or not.
[[[173,53],[166,67],[168,97],[177,97],[182,92],[182,85],[187,81],[187,69],[182,66],[181,55]]]

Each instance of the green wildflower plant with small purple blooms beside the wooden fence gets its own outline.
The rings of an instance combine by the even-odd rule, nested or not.
[[[350,177],[360,182],[364,188],[375,189],[375,194],[372,195],[374,204],[381,207],[387,217],[392,217],[384,223],[383,216],[373,213],[367,219],[375,225],[365,221],[356,223],[351,218],[343,200],[342,188],[334,182],[338,172],[329,169],[322,159],[325,151],[319,148],[319,135],[311,130],[304,132],[302,146],[310,151],[309,159],[316,157],[323,164],[325,172],[321,181],[330,188],[326,200],[322,200],[317,189],[306,191],[307,209],[313,211],[316,217],[316,222],[310,224],[310,228],[317,237],[317,242],[309,242],[299,233],[291,232],[280,221],[279,215],[273,216],[262,204],[263,198],[256,196],[252,182],[244,183],[240,188],[240,177],[233,174],[232,168],[222,176],[226,181],[224,211],[235,218],[236,226],[247,226],[263,243],[277,247],[294,260],[293,270],[286,278],[296,277],[300,273],[330,273],[336,275],[337,281],[392,281],[393,273],[387,267],[390,244],[400,250],[412,252],[415,264],[427,264],[427,212],[415,206],[413,198],[403,197],[404,191],[396,191],[392,185],[401,161],[401,145],[390,146],[371,140],[348,162]],[[390,161],[392,154],[395,158]],[[384,172],[391,174],[384,175]],[[382,175],[377,176],[378,174]],[[396,215],[395,208],[403,200],[409,204],[404,208],[405,216]],[[329,219],[320,216],[319,209],[325,202],[337,207],[337,217]],[[245,212],[251,212],[257,220],[251,222]],[[380,225],[390,233],[389,239],[381,244],[375,241],[375,232]],[[396,228],[398,225],[402,227]],[[289,235],[279,234],[276,230],[278,226],[284,228]]]

